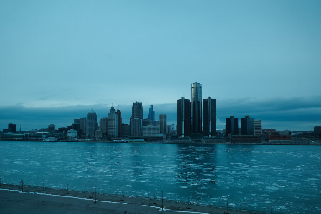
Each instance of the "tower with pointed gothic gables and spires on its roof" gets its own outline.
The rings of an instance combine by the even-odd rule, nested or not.
[[[130,118],[131,136],[142,136],[143,134],[143,103],[133,102],[132,116]]]

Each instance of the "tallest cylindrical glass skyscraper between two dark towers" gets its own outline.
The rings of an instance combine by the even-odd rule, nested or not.
[[[202,134],[202,84],[191,84],[192,133]]]

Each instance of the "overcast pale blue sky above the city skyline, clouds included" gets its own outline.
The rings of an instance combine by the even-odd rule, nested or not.
[[[112,104],[128,124],[167,114],[177,99],[216,99],[262,128],[321,125],[321,1],[0,0],[0,129],[98,120]]]

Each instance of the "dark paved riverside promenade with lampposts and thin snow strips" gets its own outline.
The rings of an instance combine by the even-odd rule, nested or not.
[[[75,191],[67,189],[2,184],[0,189],[0,209],[4,213],[41,213],[45,201],[45,213],[212,213],[230,214],[267,213],[256,210],[238,210],[230,207],[220,207],[192,204],[179,201],[163,200],[108,193]],[[38,194],[35,194],[38,193]],[[60,197],[59,197],[60,196]],[[95,201],[96,197],[96,201]],[[140,206],[139,206],[140,205]],[[143,206],[142,206],[143,205]],[[160,211],[163,207],[164,211]],[[37,211],[36,211],[37,210]]]

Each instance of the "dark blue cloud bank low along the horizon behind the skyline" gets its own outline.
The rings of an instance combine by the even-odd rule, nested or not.
[[[147,118],[149,105],[143,103],[143,115]],[[22,104],[0,107],[0,129],[7,128],[9,123],[20,125],[22,130],[48,127],[55,124],[56,128],[73,123],[74,118],[86,117],[91,108],[101,117],[108,115],[110,106],[77,105],[66,107],[24,107]],[[117,107],[116,107],[117,108]],[[131,105],[122,105],[123,123],[129,123]],[[176,103],[154,104],[155,117],[161,113],[167,114],[167,123],[175,124]],[[270,98],[270,99],[226,99],[216,100],[217,128],[222,129],[225,118],[230,115],[241,118],[250,115],[262,120],[262,128],[277,130],[313,130],[313,126],[321,125],[321,96]],[[157,120],[157,119],[156,119]]]

